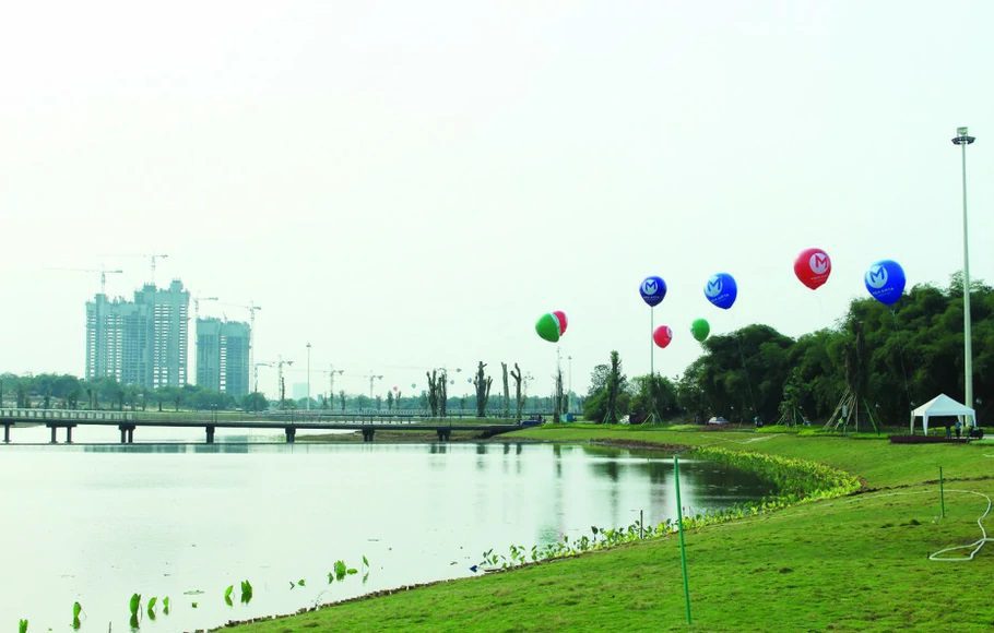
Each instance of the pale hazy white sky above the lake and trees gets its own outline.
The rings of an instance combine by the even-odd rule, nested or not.
[[[99,274],[179,278],[256,320],[289,384],[470,391],[501,361],[552,391],[619,351],[648,373],[767,323],[830,326],[871,263],[994,282],[994,4],[22,2],[0,10],[0,371],[82,374]],[[802,286],[793,260],[825,249]],[[702,288],[735,276],[729,311]],[[223,304],[224,303],[224,304]],[[192,311],[192,310],[191,310]],[[454,369],[461,369],[460,373]],[[190,368],[192,371],[192,367]],[[326,373],[321,373],[326,371]],[[275,393],[275,372],[260,387]]]

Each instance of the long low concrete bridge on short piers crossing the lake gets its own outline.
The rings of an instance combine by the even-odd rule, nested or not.
[[[486,437],[524,428],[521,423],[466,422],[464,420],[428,421],[417,414],[328,414],[328,413],[267,413],[238,414],[226,411],[189,411],[179,414],[142,414],[138,411],[87,411],[69,409],[9,409],[0,408],[3,443],[11,441],[15,425],[46,426],[51,429],[51,443],[58,443],[57,431],[66,430],[66,443],[72,443],[76,427],[117,427],[121,443],[134,442],[134,431],[142,427],[202,428],[208,444],[214,443],[216,429],[273,429],[283,430],[287,443],[296,440],[297,431],[348,430],[362,431],[363,441],[371,442],[376,431],[435,431],[440,442],[448,441],[452,431],[476,431]]]

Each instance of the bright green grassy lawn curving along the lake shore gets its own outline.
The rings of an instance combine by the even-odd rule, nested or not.
[[[718,445],[823,462],[869,492],[687,533],[694,629],[981,631],[994,628],[994,545],[972,562],[928,554],[980,538],[994,445],[755,432],[541,428],[505,435]],[[939,518],[938,467],[946,476]],[[992,530],[994,532],[994,530]],[[331,606],[239,631],[686,630],[674,537]]]

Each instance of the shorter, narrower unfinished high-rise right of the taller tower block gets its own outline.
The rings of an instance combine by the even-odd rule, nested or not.
[[[248,323],[197,320],[197,384],[236,398],[249,393]]]

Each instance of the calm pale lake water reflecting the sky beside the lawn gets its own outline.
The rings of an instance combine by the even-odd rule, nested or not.
[[[15,431],[15,441],[48,433]],[[221,439],[228,441],[0,445],[0,630],[24,618],[29,631],[70,631],[79,601],[82,631],[128,631],[134,593],[143,632],[216,626],[471,576],[490,548],[506,554],[511,544],[627,526],[640,510],[652,525],[676,512],[672,459],[646,451]],[[681,475],[691,512],[771,492],[715,464],[682,461]],[[336,560],[358,573],[329,585]],[[239,602],[242,580],[255,589],[248,605]],[[152,596],[155,620],[144,613]]]

